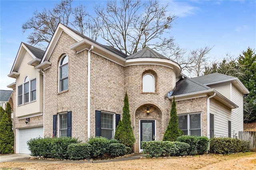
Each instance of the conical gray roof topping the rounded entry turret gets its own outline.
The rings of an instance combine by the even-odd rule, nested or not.
[[[168,59],[164,55],[154,51],[150,47],[145,47],[142,50],[126,57],[126,59],[134,59],[134,58],[163,58]]]

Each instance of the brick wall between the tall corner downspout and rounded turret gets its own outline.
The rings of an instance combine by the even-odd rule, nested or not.
[[[92,51],[91,136],[95,136],[95,110],[122,115],[124,94],[124,67],[101,57]]]

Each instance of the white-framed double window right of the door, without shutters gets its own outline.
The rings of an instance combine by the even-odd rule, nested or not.
[[[185,135],[201,136],[201,114],[178,115],[179,129]]]

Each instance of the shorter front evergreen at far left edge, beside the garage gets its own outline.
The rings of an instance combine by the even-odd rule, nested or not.
[[[10,122],[8,120],[8,115],[4,112],[2,119],[0,121],[0,153],[9,154],[13,153],[14,133]]]

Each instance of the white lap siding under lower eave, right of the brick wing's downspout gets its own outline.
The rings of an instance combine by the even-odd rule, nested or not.
[[[228,137],[228,121],[231,121],[231,128],[233,125],[231,109],[216,99],[210,99],[210,113],[214,115],[214,136]],[[232,133],[231,129],[231,136]]]

